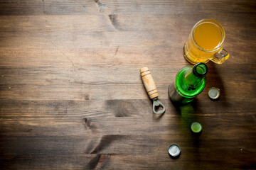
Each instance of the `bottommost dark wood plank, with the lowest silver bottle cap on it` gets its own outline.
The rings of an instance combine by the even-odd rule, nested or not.
[[[30,146],[29,150],[20,149],[20,152],[6,155],[10,159],[14,158],[15,161],[10,162],[10,159],[4,160],[5,165],[9,165],[11,167],[20,167],[22,169],[26,167],[31,167],[31,163],[33,167],[31,168],[89,168],[96,166],[106,166],[106,169],[110,168],[119,168],[120,164],[122,164],[122,168],[126,169],[127,166],[133,164],[133,162],[139,161],[141,164],[137,164],[134,166],[135,169],[141,168],[159,168],[159,167],[186,167],[191,169],[196,168],[206,168],[209,165],[212,167],[213,165],[215,169],[222,169],[223,167],[230,167],[230,164],[233,167],[253,167],[255,161],[255,157],[252,154],[252,148],[247,147],[248,145],[253,145],[252,140],[246,140],[242,145],[239,142],[233,142],[233,145],[225,145],[225,143],[230,142],[230,140],[205,140],[204,142],[196,141],[195,139],[183,138],[181,140],[175,140],[175,142],[183,143],[182,141],[187,140],[181,145],[183,149],[182,156],[179,161],[181,165],[174,162],[174,160],[169,158],[169,155],[166,153],[166,145],[169,145],[173,140],[166,140],[166,137],[161,138],[155,135],[149,136],[125,136],[125,135],[105,135],[100,138],[96,149],[97,153],[93,154],[85,154],[85,151],[89,151],[93,148],[84,148],[86,146],[85,143],[88,141],[85,138],[75,138],[75,139],[67,139],[65,137],[51,137],[44,138],[42,137],[22,137],[20,138],[20,145],[16,145],[16,137],[9,137],[8,140],[5,140],[6,148],[12,148],[12,145],[16,145],[16,147],[22,148],[24,146]],[[145,140],[146,139],[146,140]],[[38,143],[39,142],[39,143]],[[79,144],[78,146],[73,145],[74,143]],[[105,144],[108,143],[106,146]],[[123,146],[117,149],[114,147],[115,145],[122,144]],[[126,145],[128,143],[129,145]],[[92,142],[91,142],[92,144]],[[104,144],[103,147],[101,144]],[[149,145],[150,144],[150,145]],[[67,146],[67,147],[60,147]],[[201,149],[193,149],[194,147],[198,147],[200,145]],[[107,147],[107,148],[106,148]],[[78,149],[79,148],[79,149]],[[105,148],[105,149],[103,149]],[[132,149],[130,149],[132,148]],[[74,150],[75,149],[75,150]],[[15,151],[15,150],[14,150]],[[44,154],[41,154],[44,151]],[[231,152],[230,152],[231,151]],[[58,154],[56,154],[56,152]],[[189,153],[194,152],[195,157],[189,157]],[[219,154],[222,152],[223,154]],[[237,154],[232,154],[232,152],[237,152]],[[117,154],[118,153],[118,154]],[[162,157],[161,155],[164,155]],[[215,157],[209,157],[211,155],[216,155]],[[55,157],[58,156],[58,157]],[[161,159],[159,159],[161,156]],[[186,159],[188,157],[188,159]],[[223,157],[228,157],[229,159],[223,159]],[[33,159],[32,159],[33,158]],[[80,160],[82,158],[82,161]],[[37,162],[38,160],[44,160],[47,164],[41,164]],[[235,164],[233,163],[233,159],[238,159]],[[244,162],[250,159],[248,164]],[[151,163],[147,163],[147,162]],[[59,167],[53,162],[65,162]],[[188,162],[193,162],[193,164],[188,164]],[[216,164],[219,162],[220,164]],[[35,164],[36,163],[36,164]],[[105,164],[107,165],[105,165]],[[81,167],[82,166],[82,167]],[[88,167],[87,167],[88,168]]]

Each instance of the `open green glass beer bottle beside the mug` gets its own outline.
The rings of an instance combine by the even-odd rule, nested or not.
[[[208,67],[203,62],[184,67],[176,75],[173,84],[169,86],[169,96],[176,104],[186,104],[193,101],[206,86]]]

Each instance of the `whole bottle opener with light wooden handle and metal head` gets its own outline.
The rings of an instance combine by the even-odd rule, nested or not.
[[[148,67],[143,67],[142,69],[139,69],[139,72],[142,77],[142,81],[144,84],[144,87],[146,89],[147,94],[149,95],[149,98],[153,100],[153,112],[155,114],[162,114],[165,112],[164,105],[159,101],[158,99],[158,92],[156,89],[156,84],[154,83],[154,79],[149,71]],[[163,107],[161,111],[156,111],[156,107]]]

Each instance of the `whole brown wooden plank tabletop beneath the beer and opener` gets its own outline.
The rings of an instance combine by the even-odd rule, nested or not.
[[[255,9],[243,0],[1,1],[1,169],[256,169]],[[203,18],[223,25],[230,58],[208,62],[206,89],[176,108],[167,89],[189,65],[183,43]],[[198,139],[193,121],[203,125]]]

